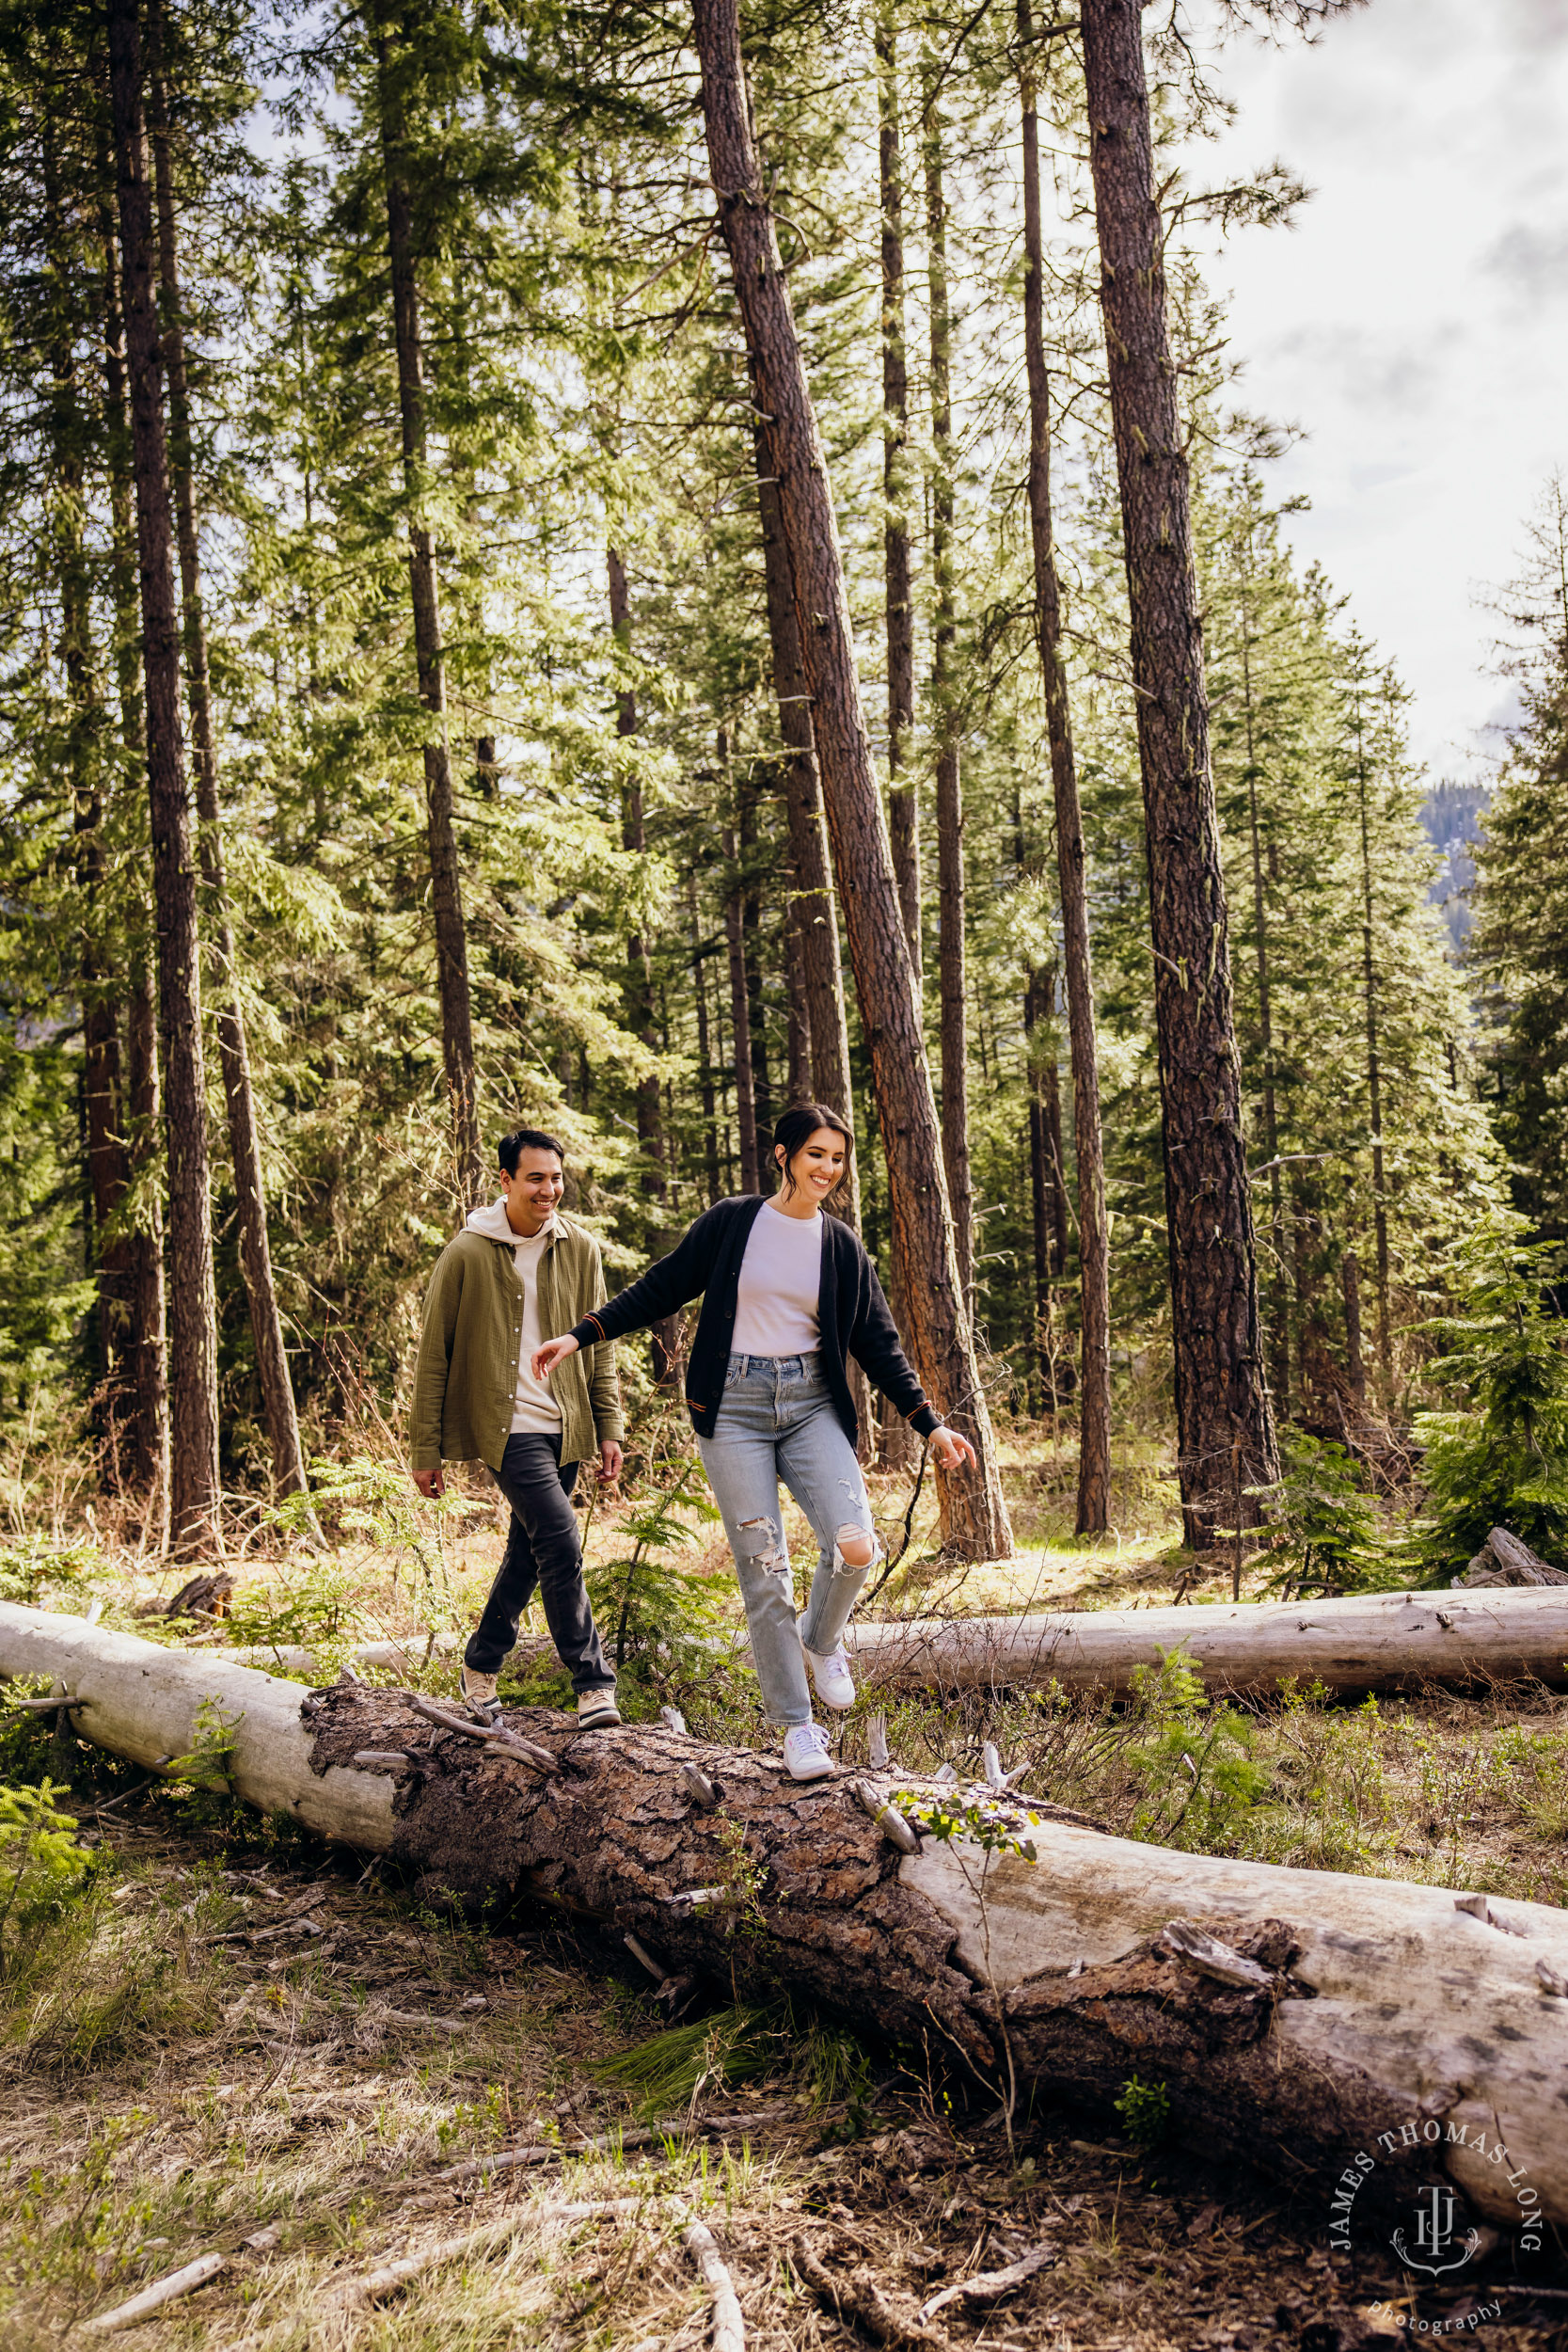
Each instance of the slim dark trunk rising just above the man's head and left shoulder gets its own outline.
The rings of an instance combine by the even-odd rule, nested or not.
[[[374,42],[393,329],[397,339],[402,480],[409,501],[414,661],[418,668],[418,699],[430,720],[425,736],[425,840],[430,847],[430,906],[435,913],[435,964],[442,1000],[442,1061],[451,1098],[456,1190],[463,1209],[470,1209],[484,1197],[484,1155],[480,1150],[480,1096],[473,1051],[473,1007],[468,997],[468,927],[463,922],[463,875],[458,868],[451,746],[447,739],[447,661],[442,649],[440,581],[435,569],[435,536],[425,513],[425,353],[414,254],[411,167],[407,162],[397,49],[383,26],[376,28]]]

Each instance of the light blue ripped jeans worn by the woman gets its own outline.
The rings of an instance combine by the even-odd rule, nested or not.
[[[832,1409],[820,1357],[731,1355],[712,1437],[698,1437],[729,1548],[736,1555],[752,1665],[771,1724],[809,1724],[806,1649],[835,1649],[860,1597],[865,1569],[839,1555],[839,1536],[870,1536],[860,1463]],[[778,1515],[785,1482],[820,1545],[804,1625]]]

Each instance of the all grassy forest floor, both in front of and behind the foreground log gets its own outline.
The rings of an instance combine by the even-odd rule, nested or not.
[[[1009,1461],[1020,1557],[957,1588],[922,1559],[922,1501],[914,1569],[903,1592],[889,1588],[896,1606],[1173,1597],[1192,1562],[1157,1470],[1124,1468],[1121,1534],[1084,1548],[1070,1536],[1063,1468]],[[875,1484],[896,1543],[910,1479]],[[233,1632],[249,1611],[275,1639],[317,1642],[331,1670],[336,1649],[367,1632],[414,1644],[444,1630],[421,1679],[449,1691],[451,1630],[498,1557],[494,1508],[475,1486],[433,1550],[397,1479],[371,1486],[355,1526],[341,1515],[327,1557],[273,1543],[240,1559]],[[625,1557],[635,1508],[595,1505],[597,1573]],[[684,1564],[733,1613],[722,1543],[703,1524],[691,1534]],[[790,1534],[804,1529],[792,1522]],[[134,1616],[160,1590],[169,1576],[120,1555],[108,1621],[183,1639]],[[1213,1590],[1227,1595],[1229,1578]],[[515,1691],[550,1703],[550,1668],[531,1663]],[[712,1656],[668,1691],[635,1672],[623,1691],[639,1712],[672,1696],[696,1731],[769,1745],[750,1675]],[[1552,1691],[1382,1705],[1286,1691],[1234,1710],[1208,1708],[1171,1670],[1128,1708],[910,1693],[886,1705],[886,1729],[907,1766],[973,1771],[994,1738],[1025,1766],[1025,1792],[1121,1835],[1568,1900],[1568,1698]],[[42,1743],[38,1719],[7,1733],[5,1776],[35,1780]],[[858,1710],[837,1745],[858,1762],[865,1743]],[[1192,1755],[1204,1759],[1197,1783]],[[101,1870],[38,1952],[19,1964],[12,1947],[0,2352],[59,2343],[209,2249],[226,2256],[223,2272],[136,2328],[136,2345],[696,2352],[710,2317],[682,2230],[698,2213],[736,2277],[752,2352],[865,2340],[802,2284],[790,2258],[802,2232],[830,2274],[875,2277],[905,2345],[1338,2352],[1467,2333],[1568,2352],[1561,2265],[1547,2284],[1523,2281],[1509,2249],[1493,2246],[1446,2286],[1420,2286],[1382,2239],[1347,2265],[1328,2249],[1321,2192],[1291,2194],[1171,2140],[1135,2145],[1105,2114],[1018,2117],[1009,2147],[992,2098],[879,2046],[875,2030],[858,2042],[832,2023],[780,2032],[752,2020],[750,2039],[736,2039],[733,2011],[715,2009],[689,2037],[682,2096],[644,2082],[654,2105],[639,2114],[630,2077],[599,2070],[668,2049],[663,2016],[597,1931],[569,1933],[536,1912],[454,1926],[200,1790],[136,1797],[132,1780],[80,1752],[68,1804]],[[710,2079],[691,2093],[703,2067]],[[1135,2122],[1133,2107],[1128,2131]],[[649,2124],[663,2129],[637,2138]],[[625,2145],[571,2152],[574,2138],[616,2126]],[[473,2169],[517,2143],[562,2152],[494,2176]],[[463,2164],[463,2178],[437,2178]],[[567,2216],[562,2199],[614,2211]],[[917,2333],[924,2300],[1046,2241],[1048,2260],[1016,2293],[992,2310],[947,2303]],[[447,2258],[383,2303],[341,2300],[343,2281],[437,2244]]]

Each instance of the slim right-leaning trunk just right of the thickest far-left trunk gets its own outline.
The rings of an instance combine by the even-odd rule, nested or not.
[[[299,1414],[289,1381],[289,1350],[277,1312],[273,1282],[273,1244],[268,1240],[266,1185],[261,1176],[261,1134],[252,1094],[249,1047],[235,990],[235,934],[223,873],[223,828],[219,816],[219,746],[212,717],[212,680],[207,668],[207,616],[202,612],[202,569],[195,534],[195,466],[190,449],[190,388],[186,376],[186,327],[179,282],[179,242],[174,226],[174,158],[169,153],[169,108],[162,82],[162,0],[148,9],[148,94],[153,127],[153,176],[158,188],[158,280],[162,292],[162,350],[169,379],[169,475],[174,482],[174,522],[179,536],[179,586],[183,604],[186,694],[190,699],[190,736],[195,748],[195,809],[202,884],[207,894],[207,929],[219,964],[219,1065],[223,1070],[223,1105],[228,1110],[228,1150],[235,1164],[235,1202],[240,1211],[240,1270],[252,1312],[252,1343],[261,1381],[261,1414],[273,1451],[273,1477],[280,1494],[306,1491],[306,1456],[299,1442]]]

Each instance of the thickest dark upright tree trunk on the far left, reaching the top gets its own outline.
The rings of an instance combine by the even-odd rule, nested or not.
[[[153,294],[153,195],[146,172],[143,68],[136,0],[108,0],[108,61],[120,195],[125,346],[136,569],[146,684],[148,809],[158,910],[158,1002],[165,1035],[169,1150],[169,1541],[183,1552],[219,1545],[219,1355],[207,1181],[207,1075],[195,858],[179,713],[179,604],[174,515],[162,419],[162,353]]]

